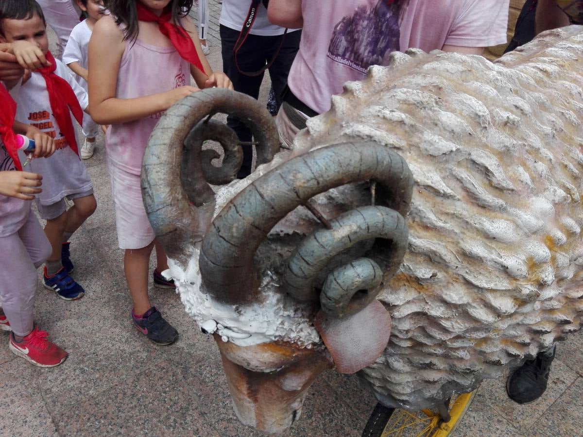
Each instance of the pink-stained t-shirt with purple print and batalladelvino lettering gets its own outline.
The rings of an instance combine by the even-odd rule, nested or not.
[[[302,0],[300,50],[287,82],[316,112],[389,54],[506,42],[510,0]]]

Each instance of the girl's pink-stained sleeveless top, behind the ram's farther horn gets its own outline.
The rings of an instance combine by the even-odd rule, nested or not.
[[[174,47],[155,47],[140,40],[127,41],[117,75],[117,98],[135,98],[163,93],[190,84],[187,61]],[[154,126],[163,112],[107,130],[108,160],[121,170],[139,175],[142,159]]]

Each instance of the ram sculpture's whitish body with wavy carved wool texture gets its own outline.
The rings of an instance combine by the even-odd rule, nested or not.
[[[347,83],[294,155],[374,140],[415,177],[409,250],[380,299],[385,353],[361,372],[413,409],[469,391],[580,329],[583,27],[491,63],[418,50]]]

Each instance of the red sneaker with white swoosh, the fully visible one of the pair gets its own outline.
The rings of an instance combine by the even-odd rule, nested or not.
[[[65,361],[67,353],[47,340],[48,334],[35,326],[30,334],[16,341],[10,334],[10,350],[17,356],[39,367],[54,367]]]

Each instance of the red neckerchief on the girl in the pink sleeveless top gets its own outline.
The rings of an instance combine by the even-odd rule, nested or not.
[[[205,68],[202,66],[201,58],[198,57],[192,38],[186,30],[171,22],[171,12],[166,12],[161,16],[157,16],[151,10],[142,5],[141,2],[136,2],[136,8],[138,9],[138,20],[158,23],[158,28],[161,33],[170,39],[170,43],[172,43],[174,48],[178,51],[180,57],[185,61],[190,62],[206,75]]]

